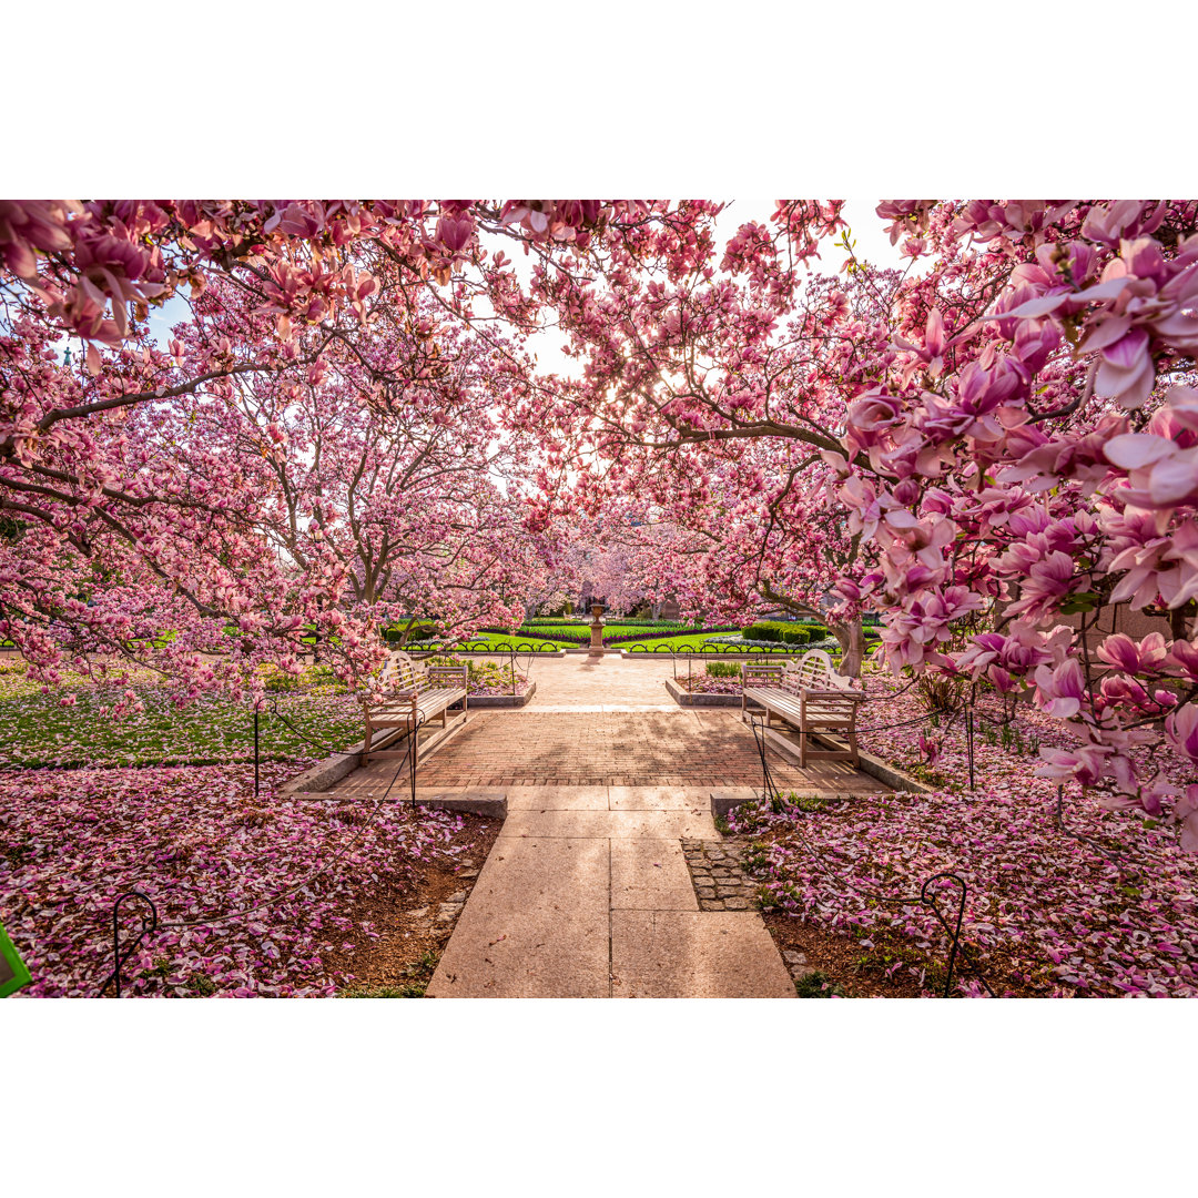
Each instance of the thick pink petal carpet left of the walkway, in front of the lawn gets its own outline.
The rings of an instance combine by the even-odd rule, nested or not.
[[[305,763],[0,775],[0,912],[30,996],[90,996],[113,967],[111,910],[137,887],[158,931],[125,967],[144,994],[328,996],[350,980],[357,900],[466,851],[458,817],[403,803],[280,799]],[[400,789],[401,794],[403,791]],[[145,908],[131,901],[122,925]],[[361,939],[361,937],[359,937]],[[352,960],[352,956],[351,956]]]

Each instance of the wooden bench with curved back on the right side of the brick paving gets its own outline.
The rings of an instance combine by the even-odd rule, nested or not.
[[[857,751],[857,708],[865,696],[852,690],[847,678],[833,670],[823,649],[811,649],[801,661],[746,661],[740,671],[740,709],[750,703],[766,709],[766,724],[776,715],[798,728],[799,768],[812,761],[851,761],[860,764]],[[843,737],[848,749],[812,749],[811,738],[821,733]]]

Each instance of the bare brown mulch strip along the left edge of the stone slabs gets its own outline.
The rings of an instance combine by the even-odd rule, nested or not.
[[[461,818],[462,827],[452,839],[455,845],[464,846],[465,852],[453,869],[426,865],[413,887],[376,894],[349,913],[355,931],[345,939],[355,950],[333,954],[327,962],[329,972],[344,972],[356,979],[343,987],[343,996],[375,997],[374,991],[407,988],[409,994],[377,997],[420,997],[416,991],[423,991],[432,976],[431,962],[441,955],[456,924],[437,922],[440,904],[460,893],[468,900],[503,825],[502,819],[488,816],[464,815]],[[363,920],[374,924],[377,939],[361,931]]]

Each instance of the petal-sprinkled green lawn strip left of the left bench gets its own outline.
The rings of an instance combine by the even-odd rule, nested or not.
[[[114,720],[101,715],[99,708],[111,707],[125,686],[68,680],[43,695],[32,684],[13,684],[11,678],[5,683],[0,691],[0,767],[200,764],[252,761],[254,756],[254,716],[248,703],[198,700],[177,708],[165,688],[133,683],[128,689],[145,704],[145,712]],[[60,700],[69,696],[74,706],[60,706]],[[362,739],[357,701],[332,686],[272,698],[297,731],[273,712],[262,712],[259,744],[264,760],[322,757],[329,749],[347,749]]]

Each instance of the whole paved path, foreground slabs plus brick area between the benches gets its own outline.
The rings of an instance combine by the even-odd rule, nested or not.
[[[422,789],[508,801],[430,997],[794,997],[712,817],[713,788],[761,785],[752,732],[739,710],[679,708],[671,673],[615,655],[536,661],[526,708],[472,715],[420,764]],[[770,767],[800,793],[878,789],[840,762]],[[381,793],[394,769],[371,762],[337,792]]]

